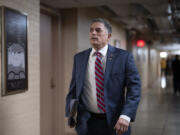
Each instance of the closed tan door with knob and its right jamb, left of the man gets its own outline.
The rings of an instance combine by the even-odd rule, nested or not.
[[[60,17],[40,14],[40,132],[60,135],[63,132],[62,49]]]

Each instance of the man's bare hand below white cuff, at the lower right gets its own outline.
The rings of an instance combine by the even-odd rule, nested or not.
[[[114,129],[117,135],[122,135],[124,132],[128,131],[129,122],[123,118],[119,118]]]

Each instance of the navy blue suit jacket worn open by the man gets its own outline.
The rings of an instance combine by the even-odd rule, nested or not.
[[[77,98],[79,101],[78,123],[81,125],[86,124],[89,117],[81,103],[81,93],[91,50],[88,49],[75,55],[70,91],[66,97],[66,116],[69,115],[71,99]],[[114,127],[122,114],[134,121],[140,101],[141,83],[132,55],[125,50],[108,45],[104,77],[104,99],[108,125]]]

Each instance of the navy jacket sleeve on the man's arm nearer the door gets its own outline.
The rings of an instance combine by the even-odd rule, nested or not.
[[[68,117],[70,113],[70,103],[71,99],[76,98],[76,61],[74,56],[74,64],[73,64],[73,70],[72,70],[72,79],[69,87],[69,92],[66,96],[66,108],[65,108],[65,116]]]

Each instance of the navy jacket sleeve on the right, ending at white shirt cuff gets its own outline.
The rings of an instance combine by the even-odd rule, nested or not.
[[[141,96],[141,81],[133,56],[130,53],[126,61],[126,84],[126,100],[121,114],[129,116],[133,122]]]

